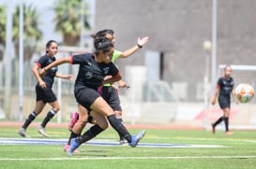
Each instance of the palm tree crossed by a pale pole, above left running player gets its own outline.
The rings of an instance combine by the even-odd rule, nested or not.
[[[15,7],[13,14],[12,38],[15,44],[16,52],[19,51],[19,24],[20,7]],[[36,7],[23,5],[23,43],[24,60],[29,61],[32,54],[37,49],[37,42],[42,38],[42,32],[39,30],[39,14]]]

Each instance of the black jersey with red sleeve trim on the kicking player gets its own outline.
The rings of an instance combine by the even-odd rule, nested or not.
[[[75,88],[86,86],[97,90],[105,76],[116,76],[119,70],[113,63],[97,63],[92,53],[72,56],[73,64],[80,64]]]

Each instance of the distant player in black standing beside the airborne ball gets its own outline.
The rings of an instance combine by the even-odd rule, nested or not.
[[[225,123],[225,134],[233,134],[229,130],[229,117],[230,117],[230,108],[231,108],[231,95],[234,96],[233,92],[233,77],[232,75],[232,67],[230,65],[226,65],[224,68],[224,77],[218,78],[218,85],[214,96],[212,98],[212,104],[216,104],[216,100],[218,97],[218,105],[223,110],[223,116],[220,117],[216,122],[212,124],[212,133],[215,134],[215,128],[222,120]],[[233,97],[234,98],[234,97]]]

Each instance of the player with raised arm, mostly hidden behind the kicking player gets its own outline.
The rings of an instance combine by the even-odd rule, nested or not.
[[[112,29],[104,29],[104,30],[98,31],[97,34],[91,35],[91,36],[93,38],[106,37],[107,39],[111,40],[114,43],[114,32]],[[134,47],[132,47],[130,49],[127,49],[125,51],[118,51],[118,50],[114,49],[112,62],[114,62],[118,58],[128,58],[128,56],[130,56],[131,54],[136,52],[138,49],[143,48],[143,45],[145,45],[147,43],[147,41],[148,41],[148,36],[145,36],[142,39],[138,38],[137,45],[135,45]],[[128,84],[121,79],[118,81],[118,85],[120,88],[128,87]],[[101,96],[113,108],[113,111],[115,112],[117,120],[120,120],[120,122],[123,122],[122,107],[120,106],[120,99],[118,96],[119,89],[116,88],[113,84],[108,83],[108,84],[104,84],[102,88],[98,89],[98,92],[100,92]],[[68,125],[69,131],[72,130],[72,127],[74,126],[74,124],[76,123],[78,118],[79,118],[79,116],[78,116],[77,112],[71,113],[71,115],[70,115],[71,120],[70,120],[70,124]],[[126,143],[126,139],[123,138],[120,134],[119,134],[119,138],[120,138],[121,145]],[[68,145],[66,145],[65,148],[67,149]]]

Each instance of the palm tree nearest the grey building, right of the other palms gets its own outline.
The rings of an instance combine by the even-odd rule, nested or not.
[[[84,18],[85,29],[90,29],[87,21],[88,14],[86,5],[82,8],[83,0],[58,0],[53,7],[55,30],[64,37],[64,44],[68,46],[78,45],[81,34],[81,17]]]

